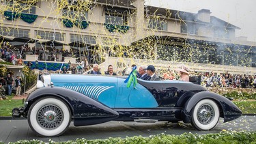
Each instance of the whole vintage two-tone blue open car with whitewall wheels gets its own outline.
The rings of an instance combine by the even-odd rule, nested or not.
[[[127,77],[127,76],[126,76]],[[125,76],[51,74],[13,117],[26,117],[40,136],[58,136],[74,126],[106,121],[184,121],[210,130],[219,117],[231,121],[242,115],[229,99],[184,81],[143,81],[127,87]]]

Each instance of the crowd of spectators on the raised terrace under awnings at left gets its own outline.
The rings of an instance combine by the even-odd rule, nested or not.
[[[76,48],[70,48],[70,51],[64,50],[63,48],[55,47],[35,47],[32,48],[25,46],[12,46],[7,42],[3,42],[0,46],[0,57],[1,59],[13,63],[14,65],[20,64],[22,59],[26,59],[26,55],[38,55],[38,61],[64,61],[64,57],[74,57],[77,61],[80,61],[80,57],[85,57],[89,63],[96,63],[100,61],[100,56],[95,54],[93,51],[79,51]]]

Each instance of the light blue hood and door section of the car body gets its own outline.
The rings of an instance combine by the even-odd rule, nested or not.
[[[126,87],[126,83],[124,83],[124,78],[111,76],[52,75],[51,80],[55,87],[64,87],[78,91],[110,108],[155,108],[158,106],[150,91],[140,84],[136,88],[128,88]],[[154,83],[161,85],[160,81]]]

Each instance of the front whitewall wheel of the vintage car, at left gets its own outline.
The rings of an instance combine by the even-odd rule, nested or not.
[[[34,102],[29,109],[29,126],[40,136],[60,135],[68,128],[70,121],[70,109],[59,98],[42,98]]]

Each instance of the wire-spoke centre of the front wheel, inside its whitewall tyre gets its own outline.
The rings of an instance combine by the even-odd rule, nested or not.
[[[42,128],[55,129],[63,121],[63,112],[53,104],[42,106],[38,111],[37,121]]]

